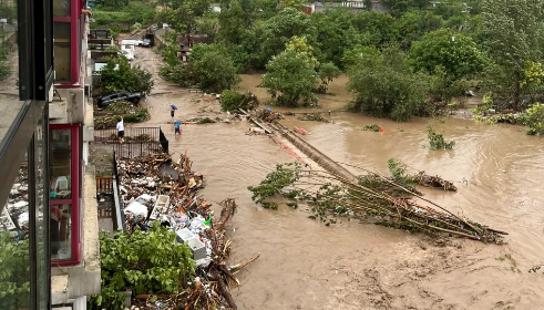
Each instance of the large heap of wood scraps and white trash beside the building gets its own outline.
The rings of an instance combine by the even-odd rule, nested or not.
[[[176,232],[177,242],[187,244],[196,266],[197,277],[191,296],[186,291],[174,297],[136,296],[140,309],[183,309],[179,306],[184,309],[208,309],[212,304],[213,309],[237,309],[228,285],[239,285],[234,272],[258,257],[246,264],[227,266],[225,260],[230,241],[225,235],[225,226],[236,211],[236,203],[232,198],[219,203],[222,211],[215,216],[211,210],[212,204],[197,196],[198,189],[205,186],[204,176],[192,172],[191,166],[187,152],[177,161],[173,161],[170,154],[117,158],[126,230],[140,227],[145,231],[152,221],[160,220],[161,225]],[[163,306],[155,308],[153,304],[157,302]]]

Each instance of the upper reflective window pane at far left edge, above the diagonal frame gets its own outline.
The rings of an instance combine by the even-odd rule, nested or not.
[[[19,100],[19,54],[17,1],[0,2],[0,146],[23,106]],[[21,30],[23,25],[20,25]],[[24,31],[21,31],[22,33]],[[24,53],[22,53],[24,54]],[[22,84],[27,90],[29,85]]]

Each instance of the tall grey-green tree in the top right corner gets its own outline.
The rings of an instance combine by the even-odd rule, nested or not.
[[[526,106],[533,90],[525,86],[527,63],[543,63],[544,1],[485,0],[483,23],[493,61],[485,84],[497,107],[516,111]]]

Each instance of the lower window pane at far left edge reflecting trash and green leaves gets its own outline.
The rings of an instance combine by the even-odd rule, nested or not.
[[[0,309],[30,308],[29,168],[27,156],[0,206]]]

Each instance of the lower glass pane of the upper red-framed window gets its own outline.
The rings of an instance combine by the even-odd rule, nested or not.
[[[55,82],[70,82],[70,22],[54,22],[54,74]]]

